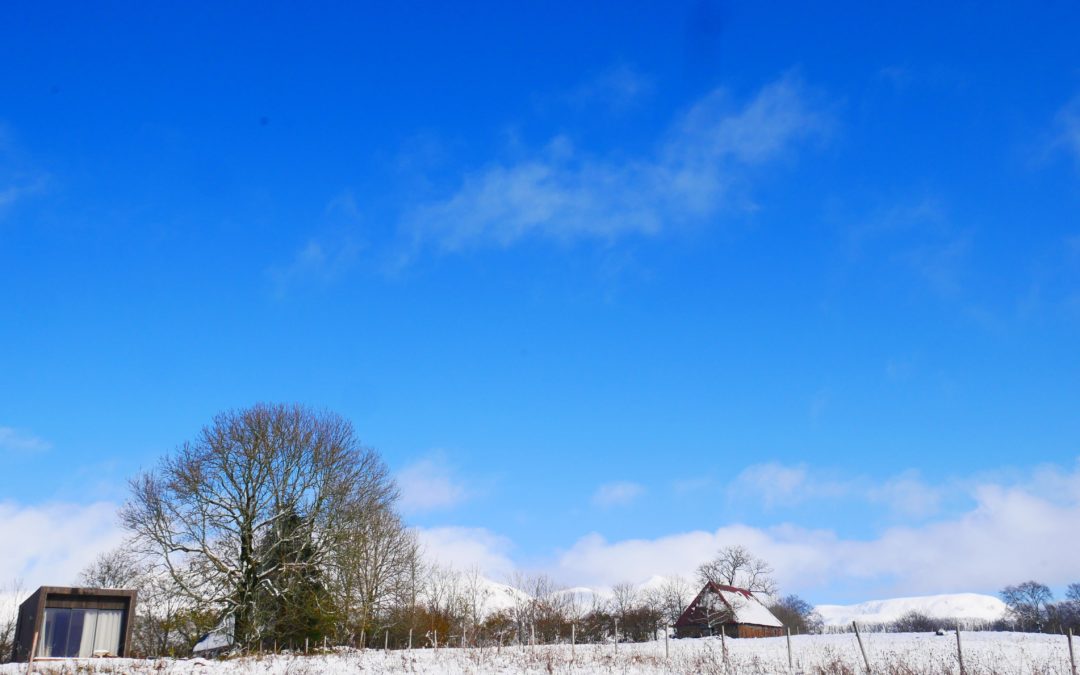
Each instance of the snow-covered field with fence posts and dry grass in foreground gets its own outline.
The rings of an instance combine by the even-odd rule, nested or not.
[[[1024,633],[961,633],[969,675],[1067,675],[1068,643],[1061,635]],[[869,634],[863,636],[874,673],[944,675],[959,673],[956,636],[934,634]],[[787,673],[784,638],[729,639],[725,659],[717,638],[619,645],[504,647],[495,649],[417,649],[413,651],[349,651],[332,656],[252,657],[231,661],[98,660],[36,663],[33,672],[132,673],[140,675],[315,675],[345,673],[659,673],[731,675]],[[864,672],[855,636],[801,635],[792,638],[795,673]],[[0,675],[23,675],[26,664],[0,666]]]

